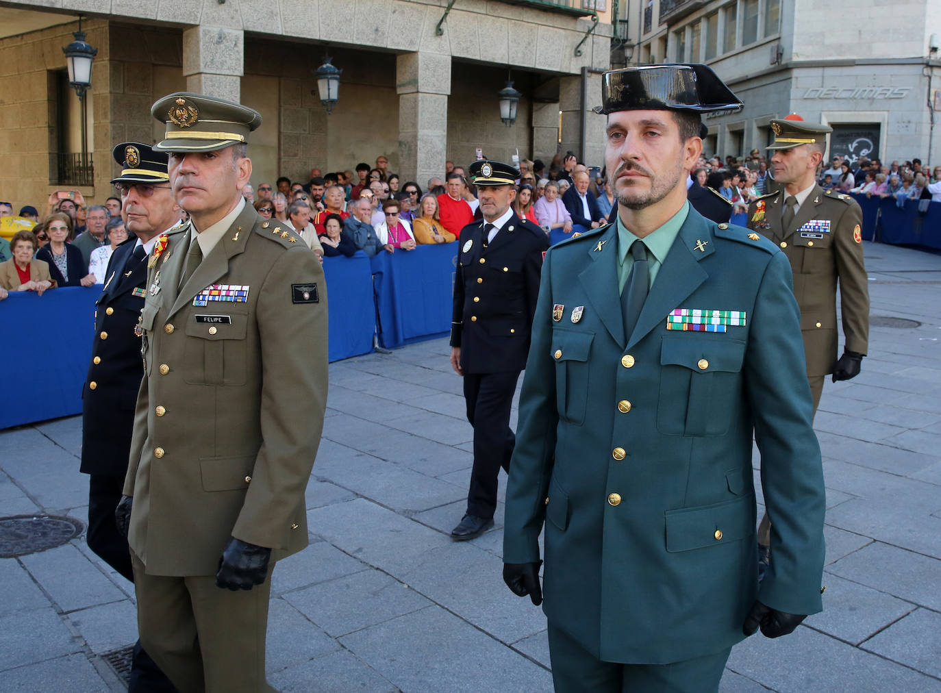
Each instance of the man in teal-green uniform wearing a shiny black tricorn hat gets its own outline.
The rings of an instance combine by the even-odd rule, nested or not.
[[[615,224],[550,249],[503,577],[542,600],[558,691],[715,691],[731,647],[821,610],[823,475],[787,257],[691,209],[702,65],[606,72]],[[774,514],[758,586],[752,437]],[[538,537],[545,529],[540,589]]]

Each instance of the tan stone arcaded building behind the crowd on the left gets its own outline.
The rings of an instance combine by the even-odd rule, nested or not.
[[[614,2],[616,6],[616,0]],[[81,108],[62,47],[81,12],[98,49]],[[2,197],[40,206],[55,190],[88,202],[112,193],[111,148],[153,142],[160,96],[189,90],[241,101],[263,116],[252,136],[252,182],[307,181],[375,164],[424,188],[445,160],[480,148],[510,161],[574,150],[600,165],[599,72],[609,66],[607,0],[104,0],[6,2],[0,8]],[[332,113],[314,71],[341,69]],[[497,92],[520,92],[512,126]],[[82,140],[93,165],[76,165]]]

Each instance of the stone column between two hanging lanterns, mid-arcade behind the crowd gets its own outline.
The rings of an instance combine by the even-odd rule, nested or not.
[[[451,55],[405,53],[395,61],[399,95],[399,175],[424,189],[444,175]]]

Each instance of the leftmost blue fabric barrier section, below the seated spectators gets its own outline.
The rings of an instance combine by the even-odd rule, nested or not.
[[[0,301],[0,429],[82,411],[102,287],[10,291]]]

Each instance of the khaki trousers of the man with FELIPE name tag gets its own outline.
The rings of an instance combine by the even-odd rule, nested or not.
[[[180,693],[269,693],[264,678],[271,570],[261,585],[231,591],[215,575],[147,575],[131,552],[137,630]]]

